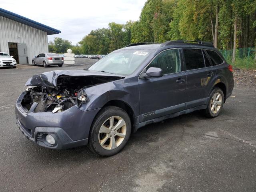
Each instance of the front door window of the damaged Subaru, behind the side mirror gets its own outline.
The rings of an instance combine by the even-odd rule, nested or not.
[[[160,53],[149,64],[150,67],[157,67],[163,70],[163,74],[180,72],[180,52],[178,49],[170,49]]]

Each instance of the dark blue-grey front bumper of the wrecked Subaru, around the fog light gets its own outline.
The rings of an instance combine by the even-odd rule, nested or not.
[[[92,121],[99,109],[81,111],[73,106],[63,112],[30,112],[23,108],[23,92],[16,102],[16,124],[20,131],[32,142],[53,149],[73,148],[86,145]],[[56,140],[50,145],[45,135],[51,134]]]

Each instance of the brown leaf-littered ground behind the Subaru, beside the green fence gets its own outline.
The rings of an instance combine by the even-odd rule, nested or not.
[[[238,87],[256,87],[256,70],[234,70],[233,77]]]

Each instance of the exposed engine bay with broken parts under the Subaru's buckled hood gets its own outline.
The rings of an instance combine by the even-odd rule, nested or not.
[[[85,90],[91,86],[120,79],[115,76],[58,76],[57,87],[30,86],[22,100],[28,112],[62,112],[89,100]]]

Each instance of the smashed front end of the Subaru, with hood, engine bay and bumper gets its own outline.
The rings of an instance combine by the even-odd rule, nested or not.
[[[100,109],[83,111],[86,89],[123,76],[88,71],[53,71],[33,76],[16,102],[18,128],[32,142],[63,149],[85,145]],[[54,142],[48,142],[51,138]]]

